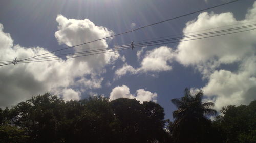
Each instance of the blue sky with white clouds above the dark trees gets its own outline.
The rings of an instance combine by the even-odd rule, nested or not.
[[[1,0],[0,62],[90,42],[226,2]],[[255,22],[256,1],[240,0],[47,56],[166,36],[189,36]],[[57,61],[0,66],[0,107],[11,107],[46,92],[66,101],[98,95],[110,100],[153,101],[164,107],[165,118],[173,120],[176,107],[170,100],[182,97],[185,88],[192,93],[203,90],[203,102],[214,102],[216,110],[248,104],[256,97],[255,37],[256,30],[249,30],[81,58],[68,55]]]

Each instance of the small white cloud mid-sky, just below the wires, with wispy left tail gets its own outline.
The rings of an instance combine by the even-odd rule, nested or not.
[[[138,57],[141,56],[141,52],[143,52],[143,48],[137,52]],[[160,71],[172,70],[172,66],[169,64],[173,57],[174,53],[172,52],[172,49],[168,48],[167,46],[161,46],[159,48],[147,51],[140,63],[139,68],[134,68],[125,63],[123,67],[116,70],[116,78],[120,78],[127,73],[157,73]]]

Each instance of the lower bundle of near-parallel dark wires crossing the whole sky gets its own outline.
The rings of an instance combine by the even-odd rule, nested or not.
[[[227,34],[245,32],[245,31],[255,30],[256,28],[251,28],[249,30],[248,29],[242,30],[242,29],[250,28],[250,27],[254,27],[254,26],[256,26],[256,24],[241,26],[241,27],[236,27],[236,28],[229,28],[229,29],[225,29],[225,30],[208,32],[208,33],[201,33],[201,34],[196,34],[196,35],[188,35],[188,36],[168,38],[168,39],[162,39],[162,40],[156,40],[156,41],[148,41],[148,42],[134,44],[134,48],[138,48],[141,46],[156,46],[156,45],[162,45],[162,44],[170,44],[170,43],[184,42],[184,41],[190,41],[190,40],[198,40],[198,39],[204,39],[204,38],[209,38],[209,37],[216,37],[216,36],[222,36],[222,35],[227,35]],[[237,31],[237,30],[242,30],[242,31]],[[230,31],[234,31],[234,32],[230,32]],[[224,32],[230,32],[230,33],[224,33]],[[218,33],[223,33],[223,34],[218,34]],[[212,35],[212,34],[218,34],[218,35]],[[211,36],[201,37],[201,36],[205,36],[205,35],[211,35]],[[195,38],[195,37],[199,37],[199,38]],[[188,39],[188,38],[195,38],[195,39]],[[184,39],[187,39],[187,40],[184,40]],[[174,40],[176,40],[176,41],[174,41]],[[173,42],[168,42],[168,41],[173,41]],[[165,43],[163,43],[163,42],[165,42]],[[19,62],[19,63],[32,63],[32,62],[34,63],[34,62],[62,60],[61,57],[66,57],[66,59],[78,58],[78,57],[82,57],[82,56],[89,56],[89,55],[95,55],[95,54],[106,53],[106,52],[114,52],[114,51],[131,49],[131,48],[132,48],[131,45],[122,45],[122,46],[113,47],[113,48],[104,48],[104,49],[90,50],[90,51],[84,51],[84,52],[75,52],[75,53],[69,53],[69,54],[45,56],[45,57],[41,57],[41,58],[37,58],[37,59],[26,60],[24,62]],[[90,54],[88,54],[88,53],[90,53]],[[85,55],[79,55],[79,54],[85,54]],[[71,56],[71,55],[79,55],[79,56]],[[67,56],[70,56],[70,57],[67,57]],[[57,58],[57,59],[50,59],[50,58]],[[44,59],[48,59],[48,60],[44,60]],[[38,60],[40,60],[40,61],[38,61]]]

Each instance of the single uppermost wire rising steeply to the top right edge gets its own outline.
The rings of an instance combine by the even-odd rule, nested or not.
[[[237,1],[240,1],[240,0],[234,0],[234,1],[227,2],[227,3],[215,5],[215,6],[208,7],[208,8],[205,8],[205,9],[201,9],[201,10],[198,10],[198,11],[195,11],[195,12],[190,12],[190,13],[183,14],[183,15],[180,15],[180,16],[177,16],[177,17],[174,17],[174,18],[166,19],[166,20],[159,21],[159,22],[156,22],[156,23],[153,23],[153,24],[149,24],[149,25],[145,25],[145,26],[142,26],[142,27],[139,27],[139,28],[135,28],[135,29],[130,30],[130,31],[126,31],[126,32],[123,32],[123,33],[111,35],[111,36],[104,37],[104,38],[100,38],[100,39],[96,39],[96,40],[93,40],[93,41],[90,41],[90,42],[86,42],[86,43],[74,45],[74,46],[71,46],[71,47],[67,47],[67,48],[63,48],[63,49],[51,51],[51,52],[48,52],[48,53],[35,55],[35,56],[30,57],[30,58],[25,58],[25,59],[18,60],[18,61],[16,61],[16,62],[21,62],[21,61],[25,61],[25,60],[28,60],[28,59],[33,59],[33,58],[36,58],[36,57],[38,57],[38,56],[42,56],[42,55],[46,55],[46,54],[50,54],[50,53],[54,53],[54,52],[66,50],[66,49],[69,49],[69,48],[74,48],[74,47],[77,47],[77,46],[81,46],[81,45],[84,45],[84,44],[96,42],[96,41],[99,41],[99,40],[108,39],[108,38],[111,38],[111,37],[119,36],[119,35],[126,34],[126,33],[130,33],[130,32],[134,32],[134,31],[137,31],[137,30],[141,30],[141,29],[143,29],[143,28],[146,28],[146,27],[150,27],[150,26],[153,26],[153,25],[157,25],[157,24],[160,24],[160,23],[164,23],[164,22],[167,22],[167,21],[171,21],[171,20],[174,20],[174,19],[178,19],[178,18],[181,18],[181,17],[188,16],[188,15],[191,15],[191,14],[195,14],[195,13],[198,13],[198,12],[206,11],[206,10],[209,10],[209,9],[217,8],[217,7],[224,6],[224,5],[227,5],[227,4],[231,4],[231,3],[234,3],[234,2],[237,2]],[[11,64],[11,63],[10,63],[10,64]],[[9,65],[9,64],[6,64],[6,65]],[[3,66],[3,65],[0,65],[0,66]]]

